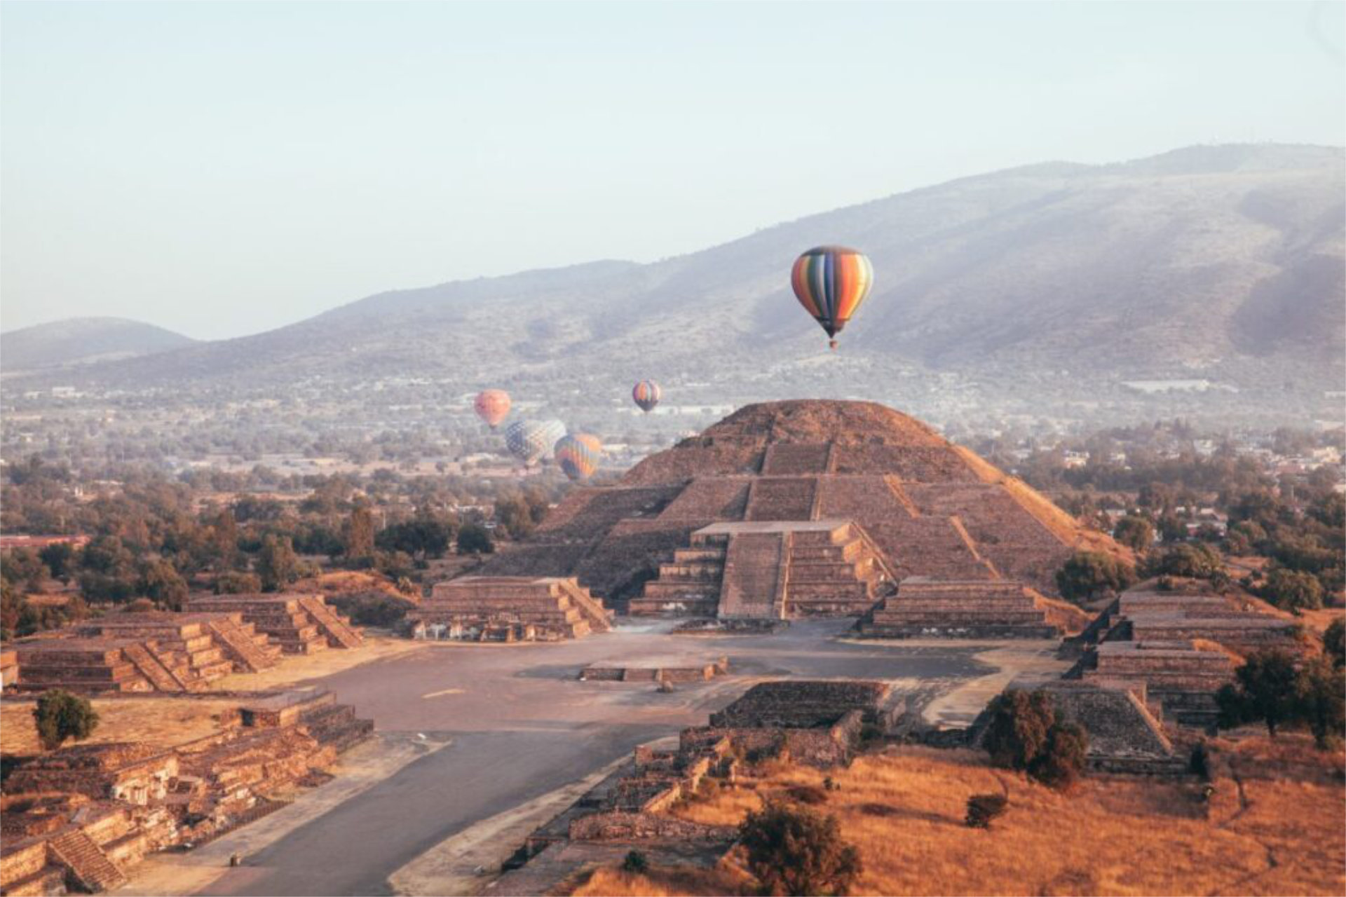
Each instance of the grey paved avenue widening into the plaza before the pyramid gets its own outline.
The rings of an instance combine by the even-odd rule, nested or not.
[[[747,682],[774,676],[902,680],[922,698],[993,671],[984,646],[855,644],[845,621],[771,636],[669,636],[621,625],[560,644],[433,644],[320,679],[382,732],[452,744],[398,771],[229,870],[210,894],[380,894],[388,877],[463,828],[569,784],[635,745],[704,724]],[[596,662],[703,660],[731,675],[661,694],[650,685],[579,682]]]

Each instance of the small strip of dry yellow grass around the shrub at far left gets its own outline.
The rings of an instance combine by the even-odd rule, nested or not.
[[[0,752],[36,753],[38,730],[32,724],[32,701],[5,701],[0,705]],[[94,701],[98,728],[81,744],[143,741],[171,748],[203,738],[218,729],[219,714],[237,707],[238,701],[197,698],[116,698]]]

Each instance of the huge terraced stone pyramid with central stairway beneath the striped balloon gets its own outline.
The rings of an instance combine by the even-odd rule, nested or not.
[[[774,619],[860,613],[914,577],[1005,584],[980,600],[1012,617],[1023,586],[1055,594],[1077,549],[1131,557],[910,417],[794,401],[746,406],[615,485],[572,491],[482,573],[573,576],[633,613]],[[1011,633],[1042,625],[1026,623]]]

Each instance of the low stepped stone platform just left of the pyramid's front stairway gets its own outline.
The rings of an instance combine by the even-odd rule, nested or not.
[[[612,612],[564,577],[468,576],[439,582],[408,619],[427,637],[472,641],[579,639],[612,625]]]

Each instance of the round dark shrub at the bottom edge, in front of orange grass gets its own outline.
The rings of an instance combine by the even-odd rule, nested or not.
[[[748,870],[770,894],[844,894],[860,875],[860,851],[841,839],[837,820],[771,802],[739,826]]]

